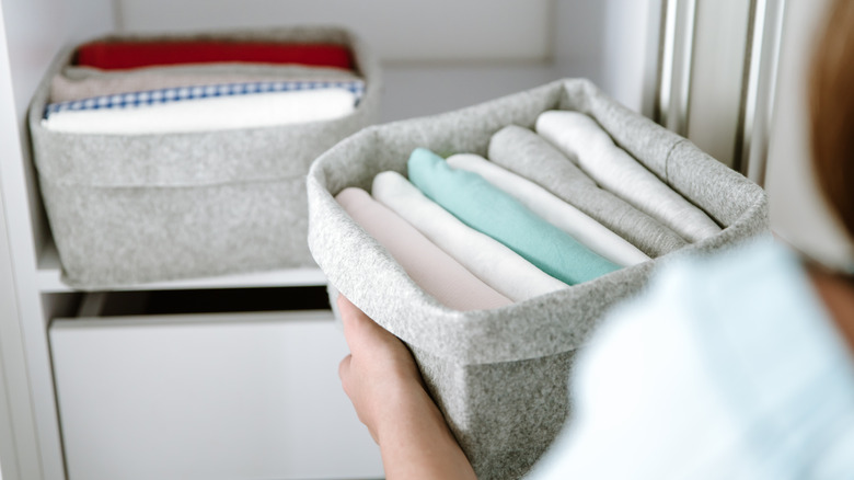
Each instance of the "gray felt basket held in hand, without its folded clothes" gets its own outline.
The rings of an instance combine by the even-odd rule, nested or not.
[[[726,227],[655,261],[495,310],[454,311],[425,294],[333,196],[370,191],[384,170],[405,174],[415,147],[485,155],[509,124],[532,128],[544,111],[591,115],[671,187]],[[311,167],[309,247],[332,285],[412,348],[434,398],[478,478],[521,477],[569,412],[576,350],[603,312],[636,293],[653,267],[768,231],[763,191],[690,141],[628,111],[586,80],[565,80],[442,115],[369,127]]]

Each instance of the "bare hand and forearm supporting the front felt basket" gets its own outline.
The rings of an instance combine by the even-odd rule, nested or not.
[[[385,477],[475,479],[424,389],[409,351],[344,296],[338,297],[338,309],[350,347],[338,375],[359,420],[380,446]]]

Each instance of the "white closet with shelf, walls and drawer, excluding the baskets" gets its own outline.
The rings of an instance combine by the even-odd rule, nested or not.
[[[22,339],[4,346],[4,361],[27,377],[9,380],[25,393],[9,407],[18,461],[4,471],[50,480],[382,477],[379,452],[339,387],[347,347],[319,268],[94,292],[64,282],[26,126],[34,93],[62,49],[114,33],[342,25],[379,59],[381,123],[566,77],[588,78],[654,116],[665,3],[2,0],[0,220],[13,272],[5,308],[21,319],[3,332]],[[747,42],[748,12],[735,10],[743,22],[734,22],[741,26],[718,49]],[[708,28],[699,22],[697,38]],[[740,72],[743,56],[715,68]],[[703,128],[704,118],[720,123],[720,103],[731,104],[726,115],[737,121],[741,94],[730,90],[718,104],[696,102],[690,112],[705,150],[712,148],[704,141],[734,142],[730,130]],[[715,157],[732,164],[732,149],[720,151]]]

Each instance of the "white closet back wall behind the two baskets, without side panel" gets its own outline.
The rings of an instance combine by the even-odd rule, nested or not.
[[[381,122],[447,112],[557,78],[554,0],[116,2],[129,32],[346,26],[383,62]]]

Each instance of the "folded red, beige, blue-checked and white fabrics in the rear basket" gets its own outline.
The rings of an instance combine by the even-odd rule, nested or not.
[[[223,66],[229,73],[217,72]],[[350,50],[335,44],[96,41],[54,77],[42,124],[142,135],[339,118],[365,93],[353,67]]]

